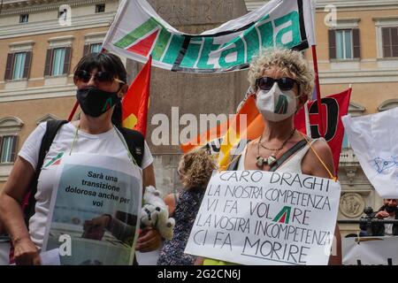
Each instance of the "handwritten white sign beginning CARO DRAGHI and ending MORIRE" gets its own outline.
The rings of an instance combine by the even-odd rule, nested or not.
[[[287,172],[213,174],[186,253],[237,264],[327,264],[340,183]]]

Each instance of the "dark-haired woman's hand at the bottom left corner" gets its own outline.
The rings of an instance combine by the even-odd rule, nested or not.
[[[14,259],[17,265],[40,265],[39,250],[30,239],[14,241]]]

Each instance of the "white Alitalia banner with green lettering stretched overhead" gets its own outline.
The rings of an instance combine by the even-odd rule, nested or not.
[[[103,48],[174,72],[246,69],[264,49],[305,50],[315,44],[314,0],[272,0],[202,34],[183,34],[145,0],[122,0]]]

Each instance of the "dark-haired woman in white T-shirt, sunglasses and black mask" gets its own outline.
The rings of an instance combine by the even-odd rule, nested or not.
[[[80,59],[73,77],[82,112],[80,119],[61,126],[47,152],[38,178],[34,215],[28,226],[21,204],[31,180],[35,178],[40,145],[46,123],[37,126],[27,138],[0,194],[0,220],[10,234],[16,264],[40,264],[45,227],[49,219],[52,187],[56,181],[54,157],[65,152],[101,154],[131,163],[131,154],[117,126],[121,125],[121,98],[126,94],[126,69],[119,57],[110,53],[91,53]],[[48,165],[50,163],[50,165]],[[144,142],[142,184],[155,186],[153,157]],[[139,238],[137,250],[157,249],[160,236],[147,230]]]

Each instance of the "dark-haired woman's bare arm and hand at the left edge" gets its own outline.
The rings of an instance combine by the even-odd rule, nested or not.
[[[0,220],[10,234],[16,264],[40,264],[40,256],[30,240],[21,204],[27,194],[34,169],[27,160],[17,157],[10,177],[0,193]]]

